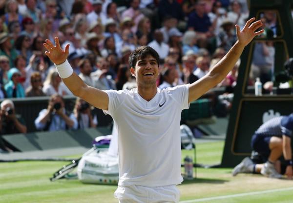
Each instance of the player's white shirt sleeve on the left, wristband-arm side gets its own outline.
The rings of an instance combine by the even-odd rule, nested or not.
[[[126,97],[126,91],[129,90],[103,90],[105,93],[107,93],[109,97],[109,104],[108,104],[108,110],[103,110],[105,114],[109,114],[110,116],[113,116],[115,111],[119,108],[121,104],[123,104],[123,101]]]

